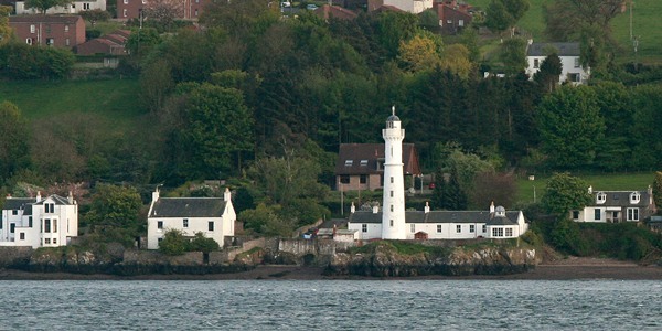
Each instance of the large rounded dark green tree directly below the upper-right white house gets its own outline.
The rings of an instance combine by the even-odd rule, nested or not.
[[[578,169],[591,166],[605,132],[597,96],[588,86],[562,86],[537,107],[536,124],[551,166]]]

